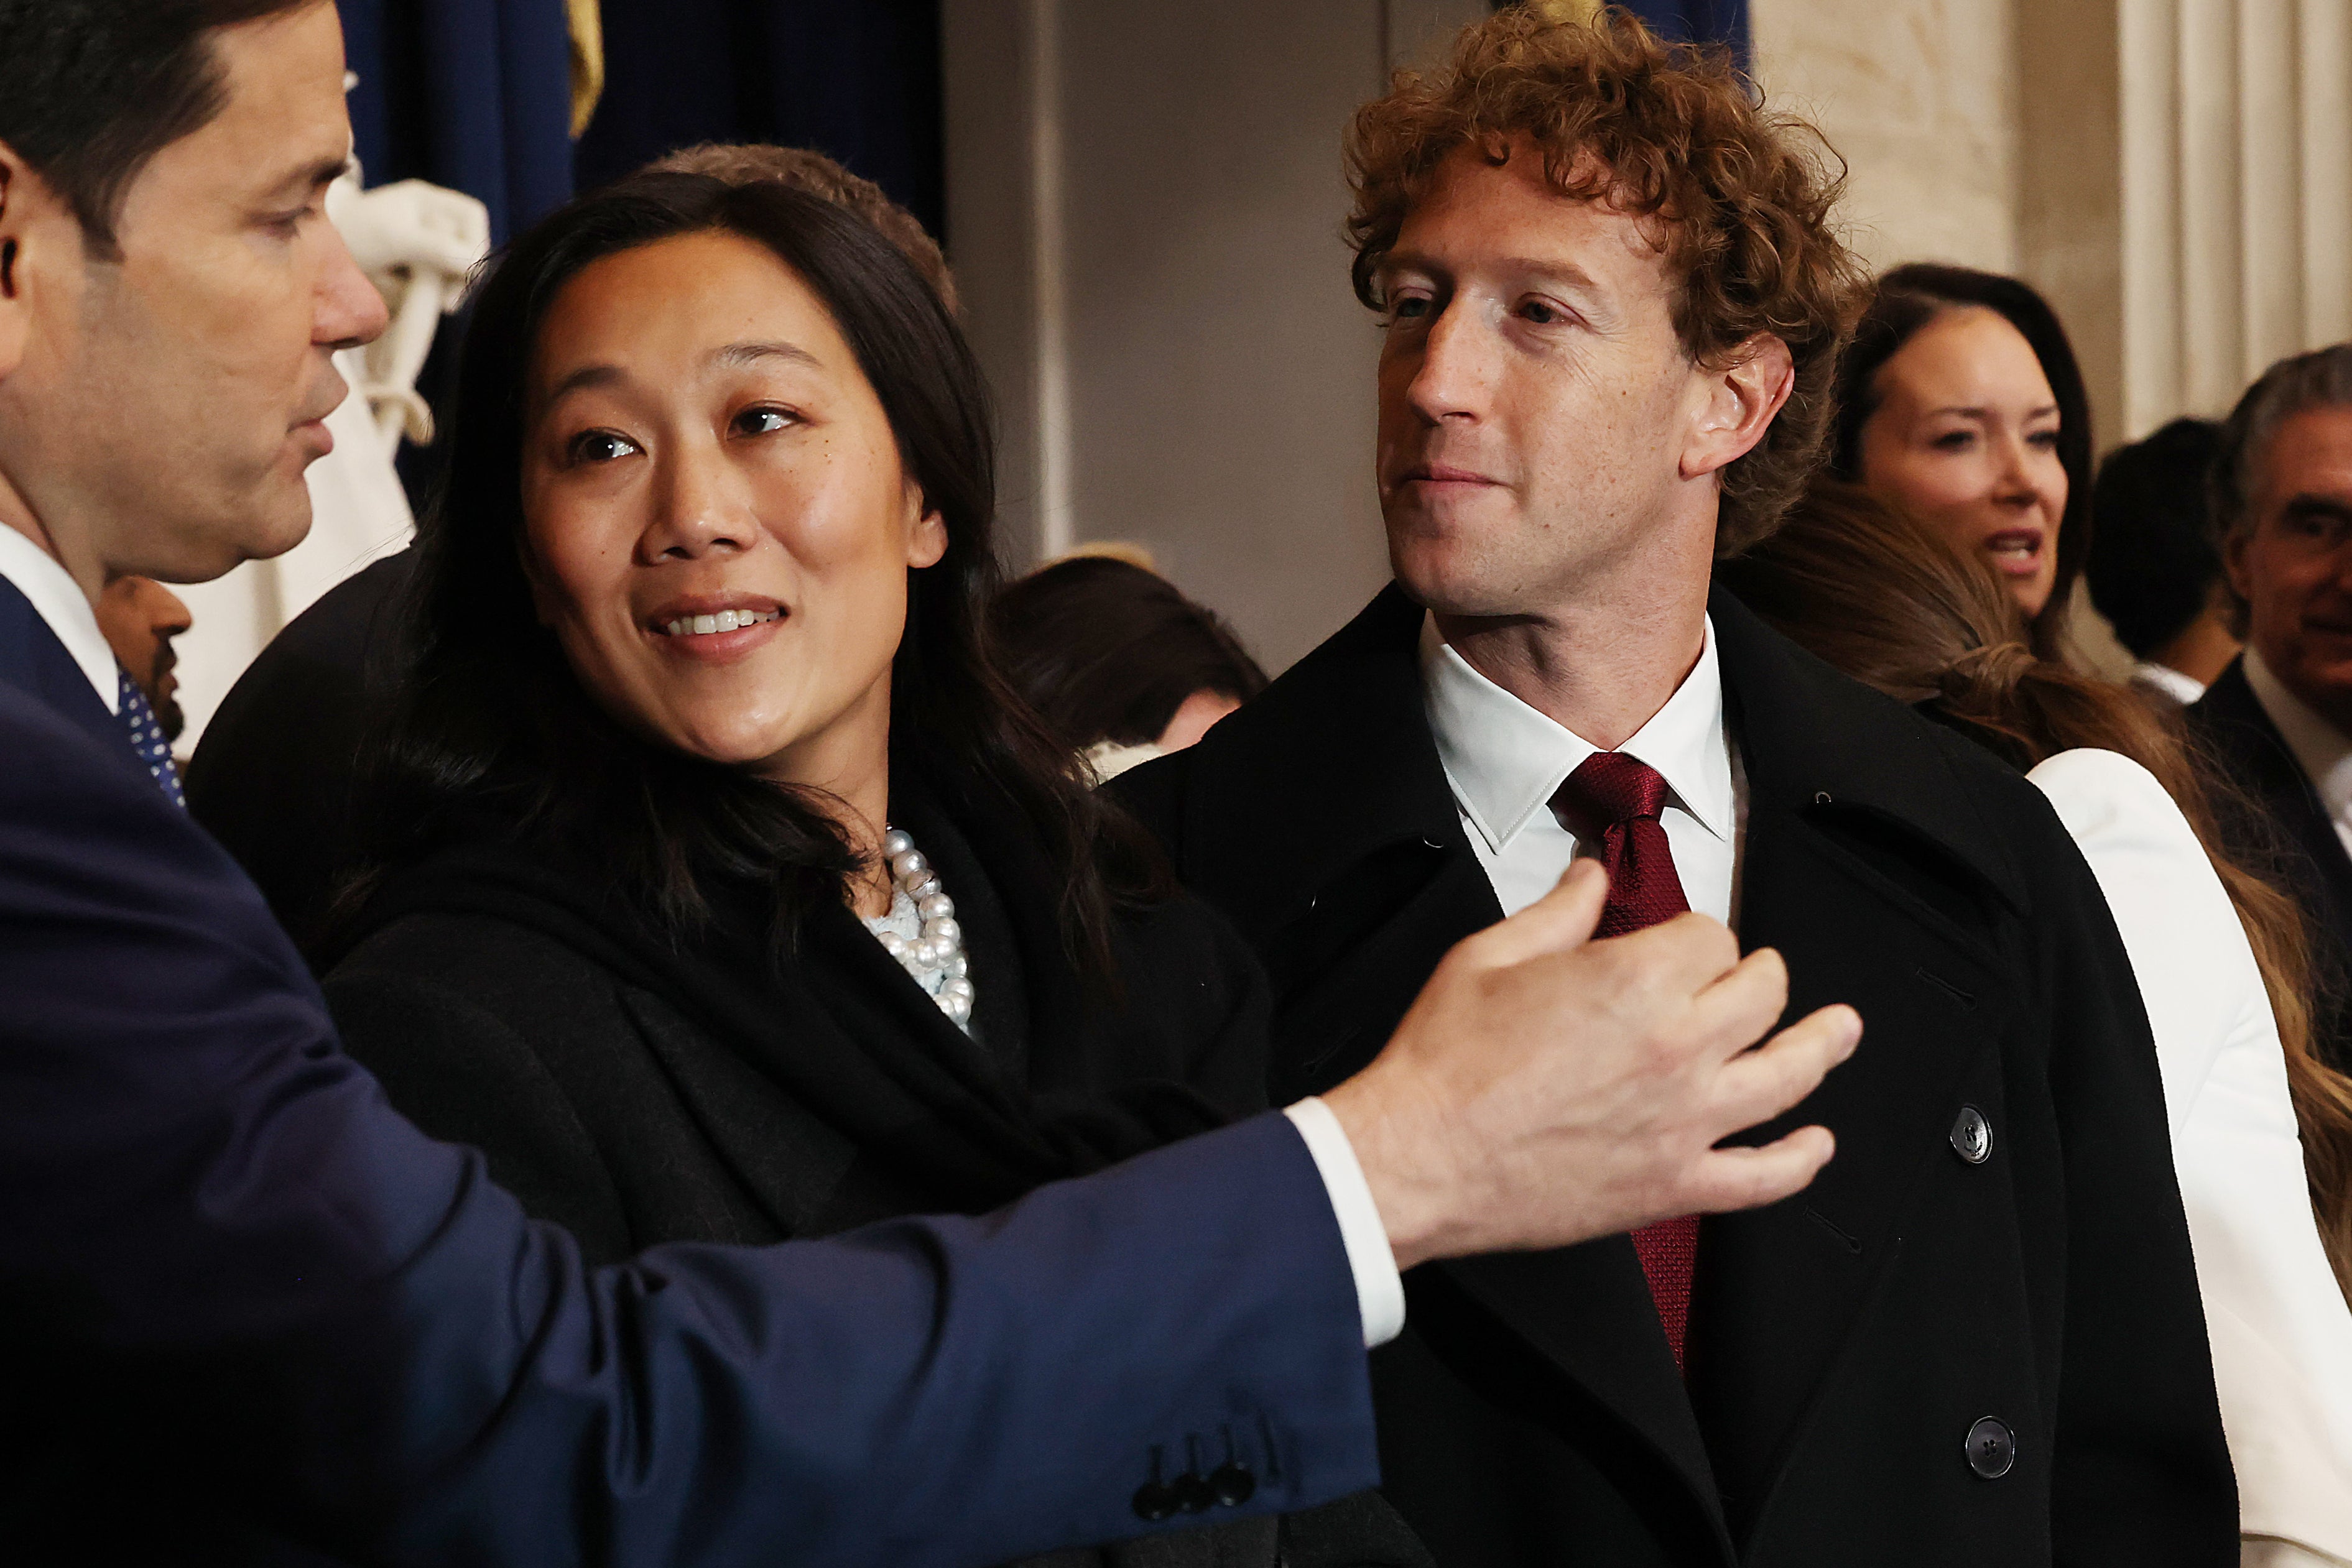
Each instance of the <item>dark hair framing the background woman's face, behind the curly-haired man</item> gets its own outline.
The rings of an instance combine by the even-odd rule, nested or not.
[[[2051,599],[2032,618],[2034,654],[2060,658],[2074,578],[2091,555],[2091,393],[2082,383],[2074,346],[2058,313],[2030,284],[1999,273],[1915,261],[1882,275],[1870,306],[1837,362],[1837,428],[1830,433],[1830,473],[1860,484],[1863,425],[1879,411],[1879,371],[1922,327],[1947,310],[1983,306],[2032,346],[2058,400],[2058,465],[2065,468],[2065,512],[2058,517],[2058,576]]]

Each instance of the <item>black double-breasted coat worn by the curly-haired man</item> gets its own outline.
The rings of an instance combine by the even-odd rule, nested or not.
[[[1437,1262],[1374,1352],[1383,1488],[1310,1563],[2237,1561],[2237,1493],[2129,959],[2042,795],[1712,604],[1748,776],[1738,933],[1858,1053],[1802,1194],[1700,1229],[1689,1382],[1625,1237]],[[1277,1100],[1371,1060],[1501,910],[1383,592],[1120,780],[1275,980]],[[1990,1152],[1959,1131],[1976,1112]],[[1962,1147],[1978,1154],[1969,1159]],[[1997,1425],[1994,1425],[1997,1422]]]

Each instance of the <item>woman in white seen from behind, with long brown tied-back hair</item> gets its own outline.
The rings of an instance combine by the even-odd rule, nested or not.
[[[2220,851],[2173,733],[2122,686],[2037,658],[2013,581],[1943,531],[1830,482],[1722,576],[2049,795],[2154,1032],[2244,1563],[2352,1559],[2352,1081],[2310,1051],[2293,903]]]

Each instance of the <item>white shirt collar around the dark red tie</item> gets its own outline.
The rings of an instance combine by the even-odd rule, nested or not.
[[[1581,844],[1550,804],[1599,748],[1479,675],[1437,632],[1435,616],[1421,623],[1421,696],[1470,851],[1503,914],[1517,914],[1550,893],[1578,853],[1599,853],[1599,844]],[[1675,696],[1618,750],[1665,776],[1672,795],[1658,823],[1682,896],[1700,914],[1731,924],[1748,785],[1724,722],[1712,621]]]

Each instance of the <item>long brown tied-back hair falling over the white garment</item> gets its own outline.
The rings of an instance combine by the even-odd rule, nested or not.
[[[2246,929],[2286,1051],[2312,1213],[2352,1300],[2352,1077],[2312,1056],[2312,973],[2293,898],[2223,849],[2216,792],[2178,724],[2122,686],[2039,658],[1992,571],[1853,484],[1816,482],[1769,541],[1719,576],[1790,639],[1867,686],[1922,703],[2032,769],[2074,748],[2131,757],[2173,797]]]

